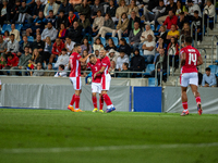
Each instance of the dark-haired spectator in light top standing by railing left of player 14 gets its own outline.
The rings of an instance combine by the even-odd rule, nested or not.
[[[175,37],[171,37],[167,51],[170,58],[170,66],[172,66],[172,58],[174,57],[174,67],[171,68],[172,72],[179,67],[179,43]]]

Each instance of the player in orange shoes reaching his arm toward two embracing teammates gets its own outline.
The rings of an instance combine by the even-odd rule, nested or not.
[[[81,86],[81,62],[86,62],[88,54],[86,58],[82,58],[80,55],[81,53],[81,46],[75,45],[74,46],[74,52],[71,54],[70,60],[69,60],[69,66],[71,67],[71,73],[70,73],[70,80],[73,84],[73,87],[75,89],[75,93],[72,97],[71,103],[69,104],[68,109],[73,111],[73,112],[82,112],[80,110],[80,95],[82,92]],[[73,108],[73,104],[75,102],[75,109]]]

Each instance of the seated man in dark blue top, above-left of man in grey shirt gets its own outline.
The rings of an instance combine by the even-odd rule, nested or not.
[[[34,22],[26,29],[26,35],[31,36],[31,34],[40,34],[46,25],[46,18],[44,17],[44,12],[39,11],[38,17],[34,20]]]

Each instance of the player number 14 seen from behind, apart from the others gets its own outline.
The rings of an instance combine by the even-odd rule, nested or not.
[[[187,95],[186,95],[189,85],[191,86],[192,92],[195,97],[198,114],[202,115],[203,110],[201,103],[201,96],[199,92],[197,91],[198,88],[197,66],[203,64],[203,60],[199,54],[199,51],[191,46],[192,37],[186,37],[184,43],[185,48],[182,48],[180,51],[181,55],[180,85],[182,90],[182,106],[184,109],[181,116],[190,114],[187,110]]]

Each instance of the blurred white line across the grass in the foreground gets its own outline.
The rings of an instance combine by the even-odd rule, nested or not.
[[[77,147],[77,148],[25,148],[25,149],[0,149],[0,153],[60,153],[60,152],[89,152],[107,150],[141,150],[141,149],[174,149],[191,147],[218,147],[218,142],[211,143],[172,143],[172,145],[143,145],[143,146],[102,146],[102,147]]]

